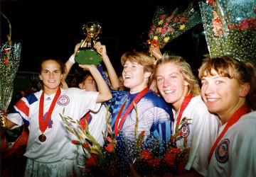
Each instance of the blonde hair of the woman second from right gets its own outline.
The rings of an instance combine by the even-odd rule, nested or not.
[[[159,67],[161,64],[165,63],[174,63],[178,67],[179,71],[183,75],[183,78],[185,81],[188,82],[188,94],[191,94],[193,97],[194,96],[199,96],[201,91],[200,91],[200,86],[198,85],[198,79],[194,76],[191,66],[186,62],[183,57],[173,55],[171,52],[166,51],[164,52],[164,55],[161,59],[157,61],[156,64],[156,69]]]

